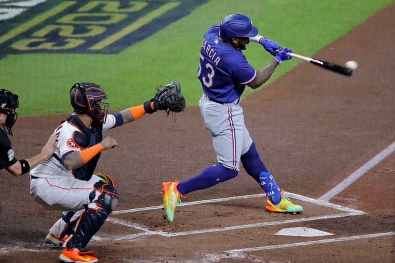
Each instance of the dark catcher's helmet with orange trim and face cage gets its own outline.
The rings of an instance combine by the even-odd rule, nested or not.
[[[70,102],[76,113],[89,113],[100,123],[106,120],[109,103],[104,89],[95,83],[76,83],[70,89]]]

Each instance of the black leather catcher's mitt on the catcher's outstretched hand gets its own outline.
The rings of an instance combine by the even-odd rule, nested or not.
[[[185,99],[181,94],[181,85],[177,81],[171,81],[163,87],[157,88],[157,94],[153,102],[157,110],[179,113],[185,108]]]

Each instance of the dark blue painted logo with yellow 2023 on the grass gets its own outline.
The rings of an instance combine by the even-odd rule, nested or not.
[[[0,0],[0,58],[119,53],[207,1]]]

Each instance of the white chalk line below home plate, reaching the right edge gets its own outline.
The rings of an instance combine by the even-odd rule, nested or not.
[[[272,246],[264,246],[264,247],[233,249],[233,250],[228,250],[228,251],[224,251],[224,252],[225,253],[229,253],[229,254],[233,254],[234,256],[243,256],[240,253],[251,252],[251,251],[260,251],[260,250],[268,250],[268,249],[278,249],[278,248],[290,248],[290,247],[298,247],[298,246],[316,245],[316,244],[323,244],[323,243],[333,243],[333,242],[358,240],[358,239],[365,239],[365,238],[375,238],[375,237],[390,236],[390,235],[395,235],[395,232],[386,232],[386,233],[376,233],[376,234],[368,234],[368,235],[357,235],[357,236],[321,239],[321,240],[316,240],[316,241],[298,242],[298,243],[272,245]]]

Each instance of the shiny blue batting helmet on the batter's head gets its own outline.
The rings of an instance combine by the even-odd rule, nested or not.
[[[226,40],[232,37],[255,37],[258,29],[252,25],[248,16],[233,14],[228,15],[221,21],[219,36]]]

